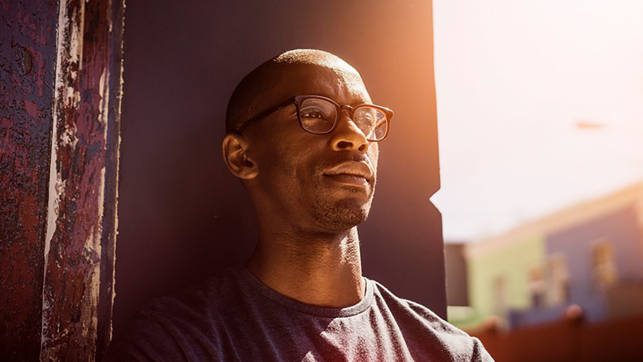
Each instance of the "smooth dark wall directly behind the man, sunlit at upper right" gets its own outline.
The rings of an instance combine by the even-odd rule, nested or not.
[[[248,257],[248,196],[221,158],[225,107],[258,64],[336,53],[395,111],[381,145],[365,275],[446,314],[430,1],[131,1],[125,23],[114,330],[145,300]]]

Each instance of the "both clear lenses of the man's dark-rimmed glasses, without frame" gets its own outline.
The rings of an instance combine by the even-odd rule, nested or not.
[[[299,106],[303,128],[312,133],[325,133],[332,129],[337,118],[337,107],[327,100],[308,98]],[[353,122],[368,140],[381,140],[386,135],[386,114],[367,105],[353,112]]]

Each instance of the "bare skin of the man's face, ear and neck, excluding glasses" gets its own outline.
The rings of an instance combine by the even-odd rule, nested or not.
[[[269,82],[260,85],[269,92],[251,105],[255,114],[295,95],[371,103],[354,68],[329,53],[303,52],[312,55],[308,64],[262,65],[254,81]],[[377,143],[366,140],[347,111],[330,134],[306,132],[290,105],[242,134],[226,134],[223,156],[257,213],[259,240],[248,270],[303,303],[358,303],[365,283],[357,226],[367,219],[375,191]]]

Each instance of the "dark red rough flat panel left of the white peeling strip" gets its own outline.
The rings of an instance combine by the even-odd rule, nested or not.
[[[0,1],[0,360],[40,353],[57,11]]]

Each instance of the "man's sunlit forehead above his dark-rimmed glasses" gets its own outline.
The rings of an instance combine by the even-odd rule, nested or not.
[[[348,64],[287,64],[275,69],[271,104],[296,95],[321,95],[339,104],[370,103],[359,73]]]

